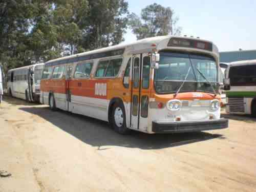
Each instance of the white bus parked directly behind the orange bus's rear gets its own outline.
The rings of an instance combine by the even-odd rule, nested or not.
[[[38,63],[8,71],[7,90],[10,96],[39,102],[40,80],[44,63]]]

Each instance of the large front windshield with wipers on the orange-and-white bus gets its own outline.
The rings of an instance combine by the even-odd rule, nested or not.
[[[160,52],[155,89],[160,94],[175,93],[185,81],[179,92],[215,93],[218,89],[217,77],[216,61],[210,56]]]

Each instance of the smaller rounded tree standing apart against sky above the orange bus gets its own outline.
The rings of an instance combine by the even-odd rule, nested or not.
[[[129,26],[137,39],[160,35],[179,35],[181,28],[176,27],[178,17],[174,17],[174,10],[156,3],[142,9],[141,17],[135,13],[129,16]]]

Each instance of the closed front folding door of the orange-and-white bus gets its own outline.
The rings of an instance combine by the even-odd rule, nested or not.
[[[130,127],[146,132],[150,90],[150,57],[147,54],[133,57],[132,82]]]

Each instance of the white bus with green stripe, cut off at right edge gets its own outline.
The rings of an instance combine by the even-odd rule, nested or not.
[[[226,112],[256,117],[256,60],[231,62],[226,69]]]

